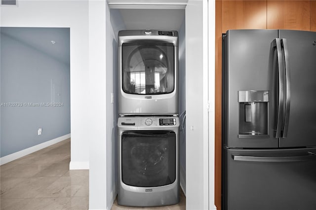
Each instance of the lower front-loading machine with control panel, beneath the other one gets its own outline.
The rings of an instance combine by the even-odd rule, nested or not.
[[[179,118],[118,118],[118,205],[179,202]]]

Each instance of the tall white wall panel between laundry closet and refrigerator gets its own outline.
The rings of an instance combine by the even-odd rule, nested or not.
[[[186,7],[186,209],[189,210],[209,209],[207,65],[207,1],[189,0]]]

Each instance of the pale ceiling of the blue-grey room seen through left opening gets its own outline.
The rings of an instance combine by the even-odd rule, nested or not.
[[[70,63],[69,28],[1,27],[1,34],[32,47],[60,62]],[[54,44],[52,43],[55,42]]]

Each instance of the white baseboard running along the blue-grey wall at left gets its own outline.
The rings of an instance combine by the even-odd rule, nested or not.
[[[37,144],[35,146],[31,146],[29,148],[23,149],[21,151],[6,155],[6,156],[0,158],[0,165],[6,164],[6,163],[11,162],[13,160],[16,160],[20,157],[31,154],[31,153],[36,152],[40,149],[43,149],[47,146],[53,145],[55,143],[58,143],[60,141],[63,141],[63,140],[69,139],[69,138],[70,138],[70,134],[67,134],[67,135],[64,135],[62,137],[58,137],[58,138],[53,139],[53,140],[48,140],[48,141],[45,141],[43,143]]]

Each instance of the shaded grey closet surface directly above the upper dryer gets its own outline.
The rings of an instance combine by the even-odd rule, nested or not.
[[[118,9],[127,30],[179,30],[185,20],[184,9]]]

